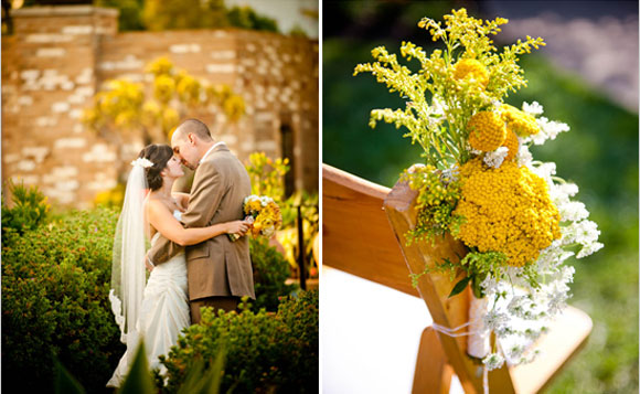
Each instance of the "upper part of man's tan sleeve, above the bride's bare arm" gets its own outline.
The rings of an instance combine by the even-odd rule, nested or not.
[[[211,161],[200,164],[193,180],[189,207],[182,214],[185,227],[206,227],[211,225],[220,202],[226,192],[223,175]]]

